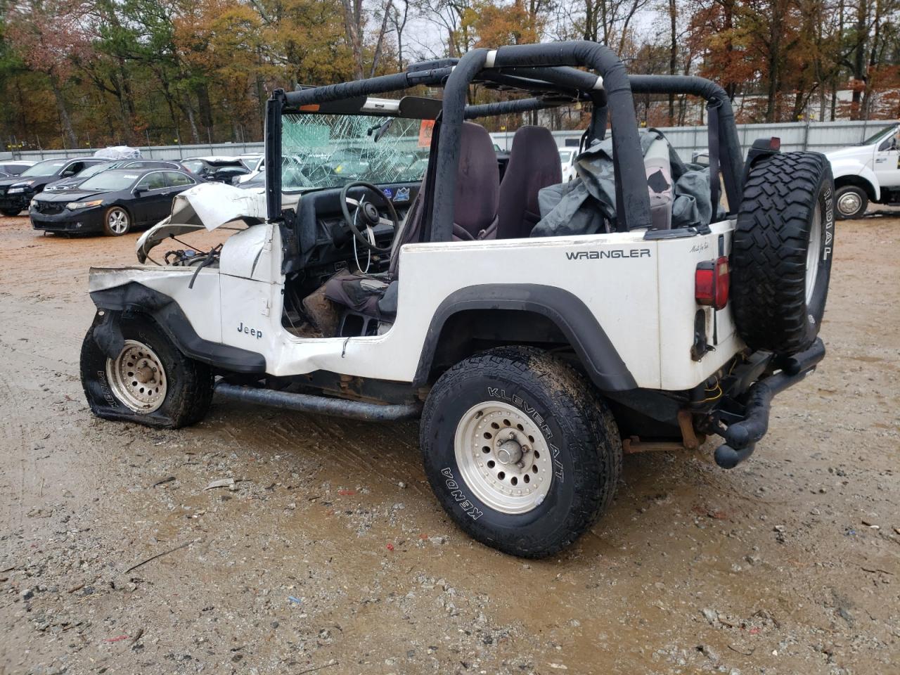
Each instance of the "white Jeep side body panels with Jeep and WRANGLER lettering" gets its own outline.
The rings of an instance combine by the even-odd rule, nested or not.
[[[326,370],[411,382],[437,307],[475,284],[544,284],[581,299],[606,332],[639,387],[689,389],[743,348],[731,311],[716,312],[716,351],[691,360],[694,273],[701,260],[727,255],[733,222],[708,235],[644,240],[644,232],[571,238],[407,245],[401,250],[399,311],[383,335],[297,338],[282,327],[284,277],[277,227],[263,223],[232,235],[220,268],[92,269],[90,288],[137,281],[173,297],[201,338],[257,352],[272,375]],[[712,337],[713,312],[707,311]]]

